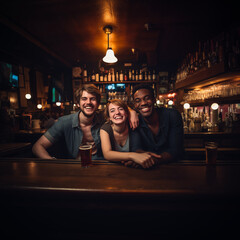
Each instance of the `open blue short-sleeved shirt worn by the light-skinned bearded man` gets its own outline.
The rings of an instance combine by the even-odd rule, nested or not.
[[[60,117],[54,125],[47,130],[44,136],[52,143],[65,140],[68,158],[76,158],[78,148],[82,142],[83,132],[79,125],[80,111],[74,114]],[[102,150],[100,142],[100,127],[104,123],[104,115],[102,111],[97,111],[93,119],[91,127],[92,137],[97,147],[97,153],[92,159],[101,159]]]

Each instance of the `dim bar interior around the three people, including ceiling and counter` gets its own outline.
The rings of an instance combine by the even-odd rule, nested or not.
[[[178,161],[143,169],[103,157],[83,168],[67,138],[47,149],[54,158],[37,156],[33,146],[59,119],[82,112],[85,84],[100,91],[99,111],[113,99],[138,111],[134,88],[151,87],[155,109],[181,115]],[[236,1],[0,3],[2,239],[231,239],[239,138]]]

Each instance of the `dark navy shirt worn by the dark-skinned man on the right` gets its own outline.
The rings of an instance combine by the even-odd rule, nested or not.
[[[183,148],[183,122],[181,114],[174,109],[156,108],[159,117],[159,132],[154,136],[144,121],[139,116],[139,127],[136,131],[140,138],[134,138],[134,148],[136,151],[141,146],[142,150],[161,154],[162,152],[170,153],[174,158],[181,158]],[[138,149],[137,149],[138,148]]]

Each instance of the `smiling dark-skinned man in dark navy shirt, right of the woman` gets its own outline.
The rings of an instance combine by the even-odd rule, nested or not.
[[[134,107],[140,113],[139,132],[142,149],[160,155],[155,163],[169,162],[182,157],[183,124],[175,109],[154,107],[156,99],[149,85],[136,85],[133,89]],[[136,144],[137,145],[137,144]],[[134,149],[137,151],[138,149]],[[127,163],[131,165],[131,163]]]

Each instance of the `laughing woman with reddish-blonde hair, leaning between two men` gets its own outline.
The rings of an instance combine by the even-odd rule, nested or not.
[[[112,162],[128,162],[133,161],[141,165],[143,168],[152,167],[155,162],[152,156],[147,152],[131,152],[133,149],[141,150],[140,137],[138,142],[132,142],[132,136],[138,134],[129,127],[129,110],[127,105],[118,99],[108,102],[106,106],[106,117],[109,119],[100,130],[101,147],[104,158]],[[156,155],[155,157],[158,157]]]

